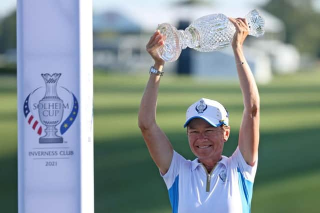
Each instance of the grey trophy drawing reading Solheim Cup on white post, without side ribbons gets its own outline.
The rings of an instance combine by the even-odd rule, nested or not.
[[[62,143],[63,139],[56,135],[55,128],[61,122],[63,116],[63,101],[56,93],[56,83],[61,73],[41,74],[45,82],[44,97],[38,103],[39,117],[46,126],[45,135],[39,138],[39,143]]]

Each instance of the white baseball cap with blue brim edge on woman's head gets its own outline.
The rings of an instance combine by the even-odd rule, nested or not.
[[[222,104],[207,98],[201,98],[189,106],[186,110],[186,120],[183,127],[186,127],[193,118],[204,119],[214,127],[222,124],[229,125],[229,115]]]

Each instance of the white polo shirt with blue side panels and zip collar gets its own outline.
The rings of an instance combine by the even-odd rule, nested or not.
[[[208,174],[198,162],[173,151],[170,167],[161,175],[168,189],[172,213],[250,213],[256,172],[237,147],[231,157],[222,156]]]

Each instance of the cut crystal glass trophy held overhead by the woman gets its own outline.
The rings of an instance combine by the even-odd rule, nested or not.
[[[257,9],[245,15],[249,35],[264,34],[264,19]],[[164,61],[175,61],[182,49],[193,48],[201,52],[220,50],[232,42],[235,27],[224,14],[210,14],[196,19],[185,30],[177,30],[169,23],[159,24],[157,29],[164,35],[164,44],[157,53]]]

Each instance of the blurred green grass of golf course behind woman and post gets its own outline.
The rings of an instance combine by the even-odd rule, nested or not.
[[[95,213],[170,213],[166,187],[137,127],[137,112],[148,75],[94,75]],[[0,76],[0,201],[17,212],[16,79]],[[275,76],[259,86],[259,164],[252,213],[318,213],[320,195],[320,72]],[[157,123],[174,149],[188,159],[182,124],[186,108],[200,97],[220,101],[230,113],[237,143],[243,110],[237,84],[165,75],[159,89]]]

